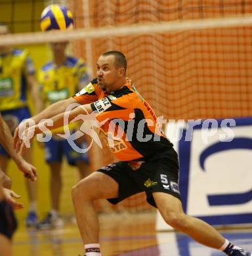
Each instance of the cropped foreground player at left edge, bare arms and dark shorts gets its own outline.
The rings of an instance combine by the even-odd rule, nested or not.
[[[35,181],[36,169],[27,163],[20,154],[16,154],[13,148],[12,135],[9,127],[0,114],[0,143],[7,150],[9,156],[14,160],[18,169],[26,178]],[[23,203],[17,202],[14,198],[20,198],[11,190],[11,179],[0,169],[0,255],[11,256],[11,238],[16,230],[16,218],[13,209],[22,209]]]

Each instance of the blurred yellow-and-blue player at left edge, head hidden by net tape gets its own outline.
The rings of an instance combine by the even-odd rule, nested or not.
[[[1,34],[9,33],[5,24],[1,24]],[[35,78],[35,68],[26,50],[12,49],[8,46],[0,47],[0,111],[11,132],[18,124],[30,117],[27,103],[27,93],[31,91],[37,112],[42,110],[39,97],[39,86]],[[9,155],[0,146],[0,167],[6,172]],[[24,155],[24,159],[32,163],[32,149]],[[27,226],[37,224],[36,184],[27,181],[30,206],[26,218]]]

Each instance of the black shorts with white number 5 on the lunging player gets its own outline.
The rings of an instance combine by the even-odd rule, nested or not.
[[[139,192],[146,192],[147,202],[154,207],[153,192],[171,194],[180,200],[179,161],[173,148],[167,157],[156,161],[119,161],[97,171],[112,177],[119,184],[118,198],[108,199],[110,203],[119,203]]]

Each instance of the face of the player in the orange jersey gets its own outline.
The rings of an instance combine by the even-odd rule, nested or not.
[[[114,56],[100,56],[96,63],[96,74],[98,77],[98,86],[107,93],[116,89],[116,83],[119,78],[119,69],[114,64]]]

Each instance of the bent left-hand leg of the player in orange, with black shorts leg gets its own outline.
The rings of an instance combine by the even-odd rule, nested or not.
[[[116,204],[144,190],[137,180],[138,173],[127,162],[118,162],[102,167],[74,186],[72,198],[75,216],[85,242],[86,255],[89,255],[89,246],[98,245],[99,224],[94,200],[108,198],[110,203]],[[100,251],[97,247],[95,249]]]

